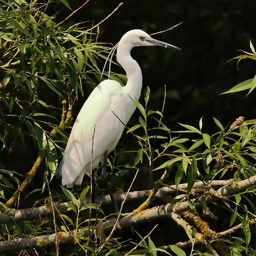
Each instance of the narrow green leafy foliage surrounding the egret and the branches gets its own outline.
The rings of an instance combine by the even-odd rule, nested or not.
[[[61,2],[71,9],[68,1]],[[115,233],[106,237],[105,230],[98,226],[111,220],[116,214],[108,215],[109,207],[101,208],[92,201],[86,201],[89,186],[71,192],[64,187],[56,188],[49,181],[54,180],[56,176],[59,155],[67,139],[64,130],[71,124],[71,120],[65,122],[65,119],[72,106],[75,106],[77,98],[83,96],[85,90],[91,90],[98,82],[98,63],[100,59],[105,59],[102,51],[108,48],[96,43],[97,34],[86,30],[80,24],[68,28],[56,24],[55,17],[47,15],[49,3],[35,5],[22,0],[1,0],[1,3],[1,154],[10,158],[15,151],[26,151],[26,162],[29,164],[37,156],[45,162],[41,164],[44,175],[40,174],[43,177],[43,184],[36,183],[35,188],[30,189],[23,186],[24,170],[11,170],[4,158],[1,158],[0,164],[3,168],[0,170],[0,211],[8,216],[15,215],[15,210],[10,208],[7,199],[15,194],[18,187],[20,197],[16,208],[32,208],[42,204],[55,209],[54,202],[70,202],[48,218],[39,216],[36,220],[16,222],[13,219],[12,222],[4,223],[0,229],[1,242],[63,232],[69,234],[76,242],[68,248],[67,254],[212,255],[209,253],[209,247],[219,248],[220,242],[222,249],[227,249],[232,255],[255,254],[255,236],[251,232],[256,214],[255,187],[247,187],[241,191],[237,189],[223,198],[211,184],[212,181],[225,179],[228,180],[228,184],[233,183],[236,187],[238,181],[256,175],[256,119],[245,120],[238,117],[231,125],[225,126],[217,118],[213,118],[213,134],[205,131],[204,118],[199,120],[196,127],[180,123],[179,130],[172,130],[164,124],[165,102],[161,111],[150,109],[152,97],[149,88],[146,89],[143,103],[131,99],[138,108],[139,118],[126,133],[127,136],[134,136],[138,148],[133,152],[116,152],[112,155],[108,159],[112,171],[110,175],[127,183],[127,177],[133,177],[135,168],[146,170],[146,175],[141,181],[152,184],[152,191],[156,192],[160,187],[170,188],[171,184],[175,184],[174,198],[163,196],[159,199],[160,203],[148,200],[147,204],[144,204],[147,208],[154,204],[159,207],[160,212],[161,207],[168,204],[174,208],[187,202],[191,212],[201,218],[200,223],[210,222],[209,229],[213,230],[212,233],[220,234],[232,228],[236,233],[233,232],[233,236],[230,231],[227,233],[229,236],[207,237],[208,234],[203,233],[204,229],[198,223],[188,224],[189,221],[184,218],[183,238],[187,238],[187,235],[189,238],[184,243],[181,240],[175,241],[175,231],[179,232],[177,225],[173,225],[175,231],[172,231],[172,236],[164,234],[161,237],[162,243],[158,243],[155,229],[158,232],[162,229],[166,233],[171,230],[172,224],[166,220],[161,229],[155,226],[148,233],[146,229],[141,229],[140,232],[128,230],[126,233],[130,237],[134,238],[133,233],[136,234],[132,241],[125,238],[124,232],[123,237],[117,237]],[[237,57],[238,62],[248,57],[255,59],[256,53],[252,43],[250,47],[252,53],[245,52],[246,55]],[[112,74],[112,77],[119,80],[117,74]],[[254,80],[255,78],[247,80],[226,93],[243,89],[250,89],[250,93],[255,88]],[[63,100],[68,102],[68,106],[61,106]],[[118,159],[123,155],[133,158],[133,164],[126,162],[118,165]],[[29,164],[21,168],[27,170]],[[34,167],[35,172],[39,170],[38,166]],[[31,179],[32,177],[29,181]],[[197,181],[203,181],[204,187],[195,188]],[[180,185],[187,187],[180,188]],[[139,189],[144,188],[141,186]],[[23,205],[25,197],[33,194],[40,198]],[[215,199],[208,204],[204,199],[212,195]],[[154,199],[154,196],[152,197]],[[132,209],[134,206],[135,203],[129,205]],[[138,213],[138,216],[139,214],[141,213]],[[183,218],[182,214],[179,214]],[[174,217],[172,219],[177,221]],[[93,226],[94,223],[100,225],[96,228]],[[130,228],[132,225],[133,229],[137,228],[135,221],[130,224]],[[203,240],[199,240],[200,232],[203,234]],[[197,236],[193,237],[195,234]],[[203,247],[195,240],[200,241]],[[163,243],[167,246],[162,246]],[[55,246],[58,251],[59,245],[55,243]],[[36,255],[36,250],[31,249],[28,253]]]

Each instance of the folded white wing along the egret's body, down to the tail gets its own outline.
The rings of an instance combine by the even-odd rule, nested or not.
[[[114,150],[124,129],[125,96],[112,80],[101,82],[77,115],[63,156],[62,184],[72,184],[90,167],[96,168],[104,152]],[[81,183],[79,181],[79,183]]]

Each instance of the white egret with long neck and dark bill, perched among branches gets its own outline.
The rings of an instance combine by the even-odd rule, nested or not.
[[[126,123],[136,106],[131,98],[139,99],[142,72],[130,51],[136,46],[162,46],[180,49],[151,38],[142,30],[131,30],[122,36],[117,46],[117,61],[125,69],[127,84],[114,80],[102,81],[85,101],[77,115],[65,148],[61,166],[62,184],[80,185],[85,174],[90,175],[104,159],[104,153],[113,151],[121,138]]]

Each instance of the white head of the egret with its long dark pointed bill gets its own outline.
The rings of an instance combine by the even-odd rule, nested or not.
[[[162,46],[165,48],[175,48],[179,47],[172,46],[172,44],[164,43],[154,38],[151,38],[146,32],[142,30],[130,30],[125,35],[122,36],[119,44],[126,44],[131,48],[136,46]]]

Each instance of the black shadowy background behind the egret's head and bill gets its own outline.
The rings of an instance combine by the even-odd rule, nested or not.
[[[82,3],[75,2],[71,2],[73,9]],[[93,20],[96,24],[119,3],[90,1],[69,23]],[[142,68],[143,88],[151,89],[150,109],[162,108],[166,85],[164,122],[168,127],[176,129],[177,122],[198,126],[199,119],[204,117],[204,131],[210,133],[214,132],[212,117],[224,126],[240,115],[255,118],[254,92],[247,97],[247,92],[220,95],[255,75],[254,61],[242,61],[239,70],[236,60],[228,62],[242,54],[238,49],[250,52],[250,40],[255,43],[255,8],[255,1],[125,1],[100,25],[98,42],[115,44],[134,28],[151,34],[183,22],[172,31],[155,35],[182,51],[139,47],[132,53]],[[56,16],[62,20],[67,9],[59,10]],[[142,95],[143,92],[144,89]]]

